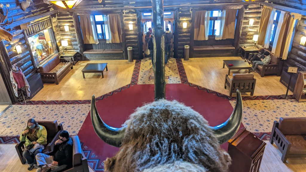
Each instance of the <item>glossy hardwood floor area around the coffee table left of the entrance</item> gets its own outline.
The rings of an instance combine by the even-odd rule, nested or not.
[[[81,70],[88,63],[108,63],[108,71],[101,73],[85,73]],[[44,84],[44,88],[31,100],[89,100],[109,93],[131,83],[135,66],[127,60],[80,61],[58,84]]]

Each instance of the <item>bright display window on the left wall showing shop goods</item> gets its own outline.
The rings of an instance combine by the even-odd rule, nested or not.
[[[43,63],[56,52],[54,36],[51,28],[28,37],[28,40],[36,66]]]

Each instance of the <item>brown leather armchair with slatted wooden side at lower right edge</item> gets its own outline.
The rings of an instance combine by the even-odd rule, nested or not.
[[[287,158],[306,158],[306,117],[279,118],[274,121],[270,143],[275,143],[282,153],[282,161]]]

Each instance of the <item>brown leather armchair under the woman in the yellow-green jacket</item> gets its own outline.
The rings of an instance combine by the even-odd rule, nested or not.
[[[42,121],[36,121],[39,125],[43,125],[47,130],[47,146],[45,146],[45,149],[43,150],[43,153],[46,153],[48,151],[53,151],[54,149],[54,143],[56,140],[59,139],[59,134],[64,130],[62,124],[58,125],[57,120],[42,120]],[[17,151],[17,154],[19,156],[19,159],[22,164],[26,163],[26,159],[22,156],[22,149],[24,148],[24,141],[19,142],[15,148]]]

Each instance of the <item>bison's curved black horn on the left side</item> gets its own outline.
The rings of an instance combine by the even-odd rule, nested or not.
[[[98,111],[95,106],[95,95],[91,98],[91,122],[95,129],[95,133],[102,139],[105,143],[110,144],[115,147],[120,147],[122,138],[124,136],[125,127],[114,128],[110,127],[103,122],[100,118]]]

